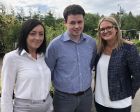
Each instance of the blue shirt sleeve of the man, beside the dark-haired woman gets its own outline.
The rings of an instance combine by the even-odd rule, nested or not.
[[[45,62],[51,70],[52,79],[53,79],[53,71],[56,66],[56,52],[53,43],[50,43],[47,47],[46,54],[45,54]]]

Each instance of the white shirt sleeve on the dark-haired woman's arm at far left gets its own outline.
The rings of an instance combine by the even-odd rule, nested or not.
[[[16,80],[16,67],[13,59],[8,54],[6,54],[3,59],[1,78],[1,112],[13,112],[13,91]]]

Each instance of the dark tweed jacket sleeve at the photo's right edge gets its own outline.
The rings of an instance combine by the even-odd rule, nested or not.
[[[140,56],[134,45],[132,45],[128,54],[128,67],[132,74],[132,98],[134,98],[140,88]]]

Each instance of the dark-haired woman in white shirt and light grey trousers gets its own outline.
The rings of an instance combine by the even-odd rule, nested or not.
[[[51,72],[44,60],[45,50],[43,24],[36,19],[27,20],[17,49],[4,56],[1,112],[52,112]]]

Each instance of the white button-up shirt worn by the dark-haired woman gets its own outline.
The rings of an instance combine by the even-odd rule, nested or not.
[[[49,94],[51,72],[45,63],[44,55],[37,59],[25,50],[7,53],[2,66],[1,112],[13,112],[13,90],[16,98],[43,100]]]

